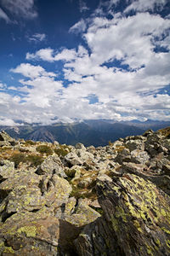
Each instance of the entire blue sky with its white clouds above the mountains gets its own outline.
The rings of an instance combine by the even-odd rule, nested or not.
[[[170,120],[169,0],[0,0],[0,125]]]

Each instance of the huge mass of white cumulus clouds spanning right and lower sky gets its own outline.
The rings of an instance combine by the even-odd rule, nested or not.
[[[110,1],[110,8],[118,2]],[[18,87],[22,96],[2,91],[0,104],[6,106],[8,119],[43,124],[56,118],[169,120],[170,20],[148,12],[166,3],[131,1],[124,13],[111,12],[109,19],[95,12],[83,20],[84,27],[77,23],[70,29],[82,33],[83,46],[27,53],[27,61],[37,64],[21,63],[11,69],[26,77]],[[132,9],[134,14],[127,15]],[[62,61],[64,81],[38,65],[40,60]]]

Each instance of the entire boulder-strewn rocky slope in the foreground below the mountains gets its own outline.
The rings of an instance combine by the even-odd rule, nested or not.
[[[0,255],[170,255],[170,128],[85,148],[0,133]]]

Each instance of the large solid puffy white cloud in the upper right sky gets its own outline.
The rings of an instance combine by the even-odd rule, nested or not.
[[[169,20],[148,13],[108,20],[106,27],[105,19],[100,20],[104,20],[103,27],[93,23],[84,35],[92,57],[99,64],[114,58],[124,60],[132,68],[147,64],[154,48],[151,40],[170,26]]]

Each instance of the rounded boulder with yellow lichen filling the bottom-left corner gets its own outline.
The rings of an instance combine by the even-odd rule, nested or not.
[[[0,253],[10,255],[54,255],[59,242],[59,220],[48,210],[20,212],[0,227]]]

